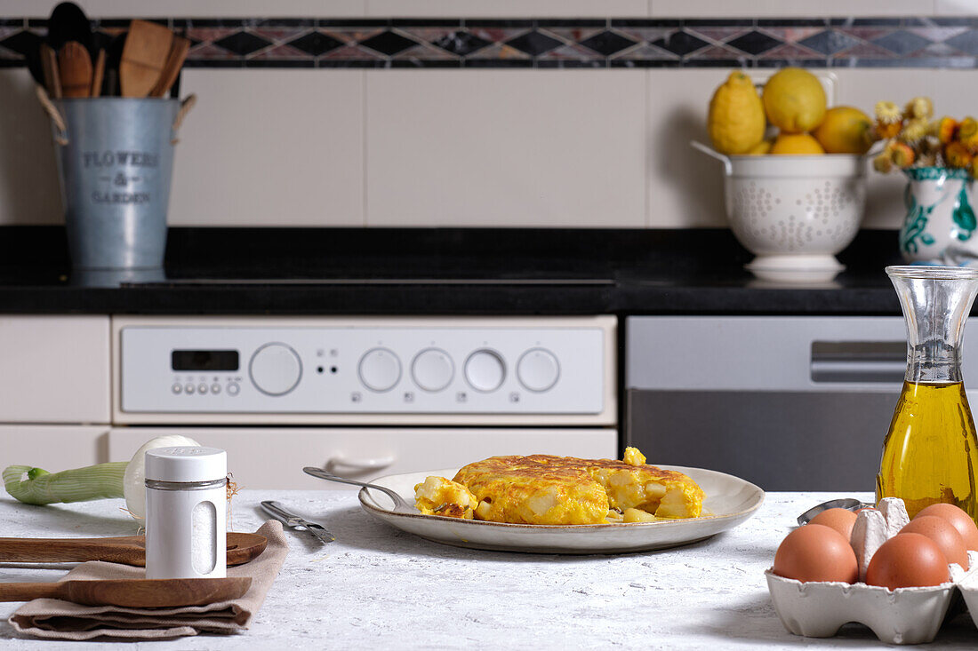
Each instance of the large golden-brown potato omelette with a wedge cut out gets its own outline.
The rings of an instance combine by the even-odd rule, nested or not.
[[[680,472],[573,456],[493,456],[469,463],[454,481],[479,499],[476,518],[521,524],[598,524],[609,508],[656,513],[667,501],[659,515],[695,517],[703,498]]]

